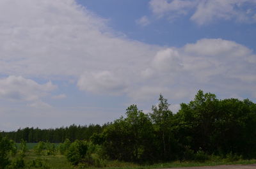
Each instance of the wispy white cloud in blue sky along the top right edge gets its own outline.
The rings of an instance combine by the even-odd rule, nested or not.
[[[198,25],[216,20],[255,22],[256,1],[251,0],[151,0],[150,8],[158,17],[177,18],[189,15]]]

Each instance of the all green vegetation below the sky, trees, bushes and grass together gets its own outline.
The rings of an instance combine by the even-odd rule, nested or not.
[[[0,169],[256,163],[256,104],[252,101],[220,100],[198,91],[193,101],[180,104],[177,114],[169,107],[160,95],[151,113],[131,105],[125,117],[102,126],[2,132]]]

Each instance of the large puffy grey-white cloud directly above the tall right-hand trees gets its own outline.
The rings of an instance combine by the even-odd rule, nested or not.
[[[181,48],[159,50],[140,74],[147,84],[157,87],[141,87],[134,97],[147,98],[146,92],[164,91],[177,100],[193,98],[198,89],[225,97],[250,92],[256,84],[254,59],[249,48],[222,39],[202,39]]]

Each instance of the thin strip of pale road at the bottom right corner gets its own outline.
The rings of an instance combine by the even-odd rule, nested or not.
[[[170,168],[165,168],[170,169]],[[218,166],[195,166],[195,167],[181,167],[172,169],[256,169],[255,165],[218,165]]]

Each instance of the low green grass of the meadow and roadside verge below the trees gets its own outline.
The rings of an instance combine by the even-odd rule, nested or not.
[[[19,143],[17,144],[19,146]],[[33,152],[33,147],[36,143],[28,143],[28,152],[26,152],[26,157],[24,158],[26,164],[31,163],[31,161],[40,160],[44,163],[44,169],[82,169],[83,167],[74,167],[68,163],[65,156],[60,155],[56,152],[54,155],[46,155],[46,151],[42,152],[41,155],[35,154]],[[107,161],[106,167],[104,169],[151,169],[151,168],[175,168],[175,167],[189,167],[189,166],[216,166],[216,165],[249,165],[256,163],[256,159],[238,159],[237,161],[232,161],[230,159],[220,159],[218,157],[212,156],[211,159],[205,161],[204,163],[196,161],[173,161],[171,163],[157,163],[154,165],[138,165],[135,163],[127,163],[122,161]],[[29,167],[28,167],[29,168]],[[29,169],[38,169],[30,167]],[[94,169],[88,168],[88,169]]]

